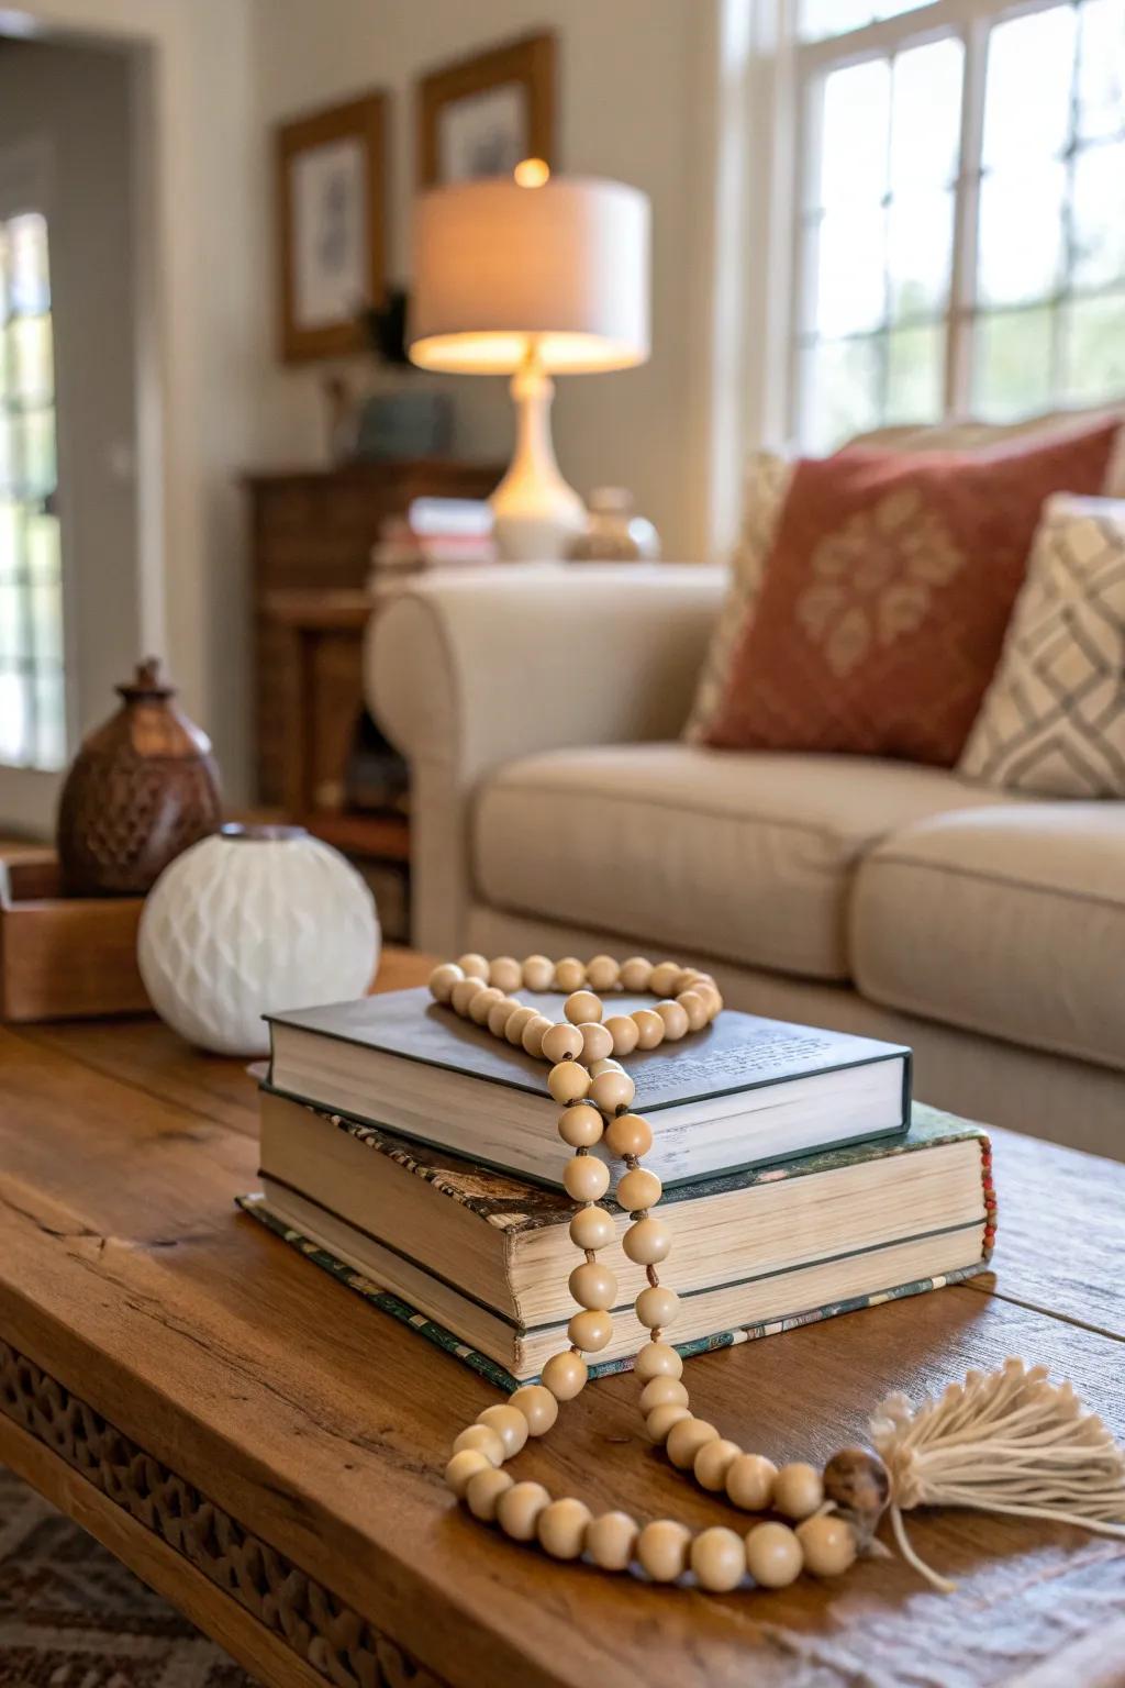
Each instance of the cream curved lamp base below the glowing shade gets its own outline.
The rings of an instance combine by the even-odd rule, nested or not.
[[[511,378],[511,397],[516,449],[489,498],[496,547],[504,562],[558,562],[585,530],[585,505],[558,473],[550,424],[555,383],[535,346]]]

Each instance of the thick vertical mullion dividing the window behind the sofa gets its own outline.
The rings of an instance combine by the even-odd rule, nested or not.
[[[945,410],[968,415],[973,393],[973,331],[977,319],[977,235],[980,226],[982,149],[985,135],[985,74],[988,20],[965,25],[961,83],[961,155],[953,211],[953,273],[946,334]]]

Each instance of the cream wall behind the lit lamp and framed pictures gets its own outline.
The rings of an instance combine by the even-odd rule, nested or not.
[[[698,331],[690,321],[700,189],[693,179],[697,32],[703,0],[255,0],[255,83],[263,128],[369,88],[391,93],[390,272],[406,279],[415,186],[413,91],[420,73],[514,35],[558,35],[558,162],[619,177],[653,199],[653,360],[622,375],[560,380],[555,446],[580,493],[632,488],[670,557],[702,544],[693,488],[692,392]],[[263,307],[275,302],[275,252],[258,253]],[[261,338],[255,432],[263,463],[324,454],[324,366],[273,360]],[[511,408],[499,378],[455,383],[459,449],[504,461]]]

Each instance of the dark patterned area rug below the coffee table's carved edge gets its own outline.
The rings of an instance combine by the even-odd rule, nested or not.
[[[255,1680],[0,1465],[0,1688],[255,1688]]]

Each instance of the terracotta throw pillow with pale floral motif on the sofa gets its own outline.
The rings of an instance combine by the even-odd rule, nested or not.
[[[1118,424],[992,451],[796,464],[707,743],[951,768],[1051,493],[1098,493]]]

